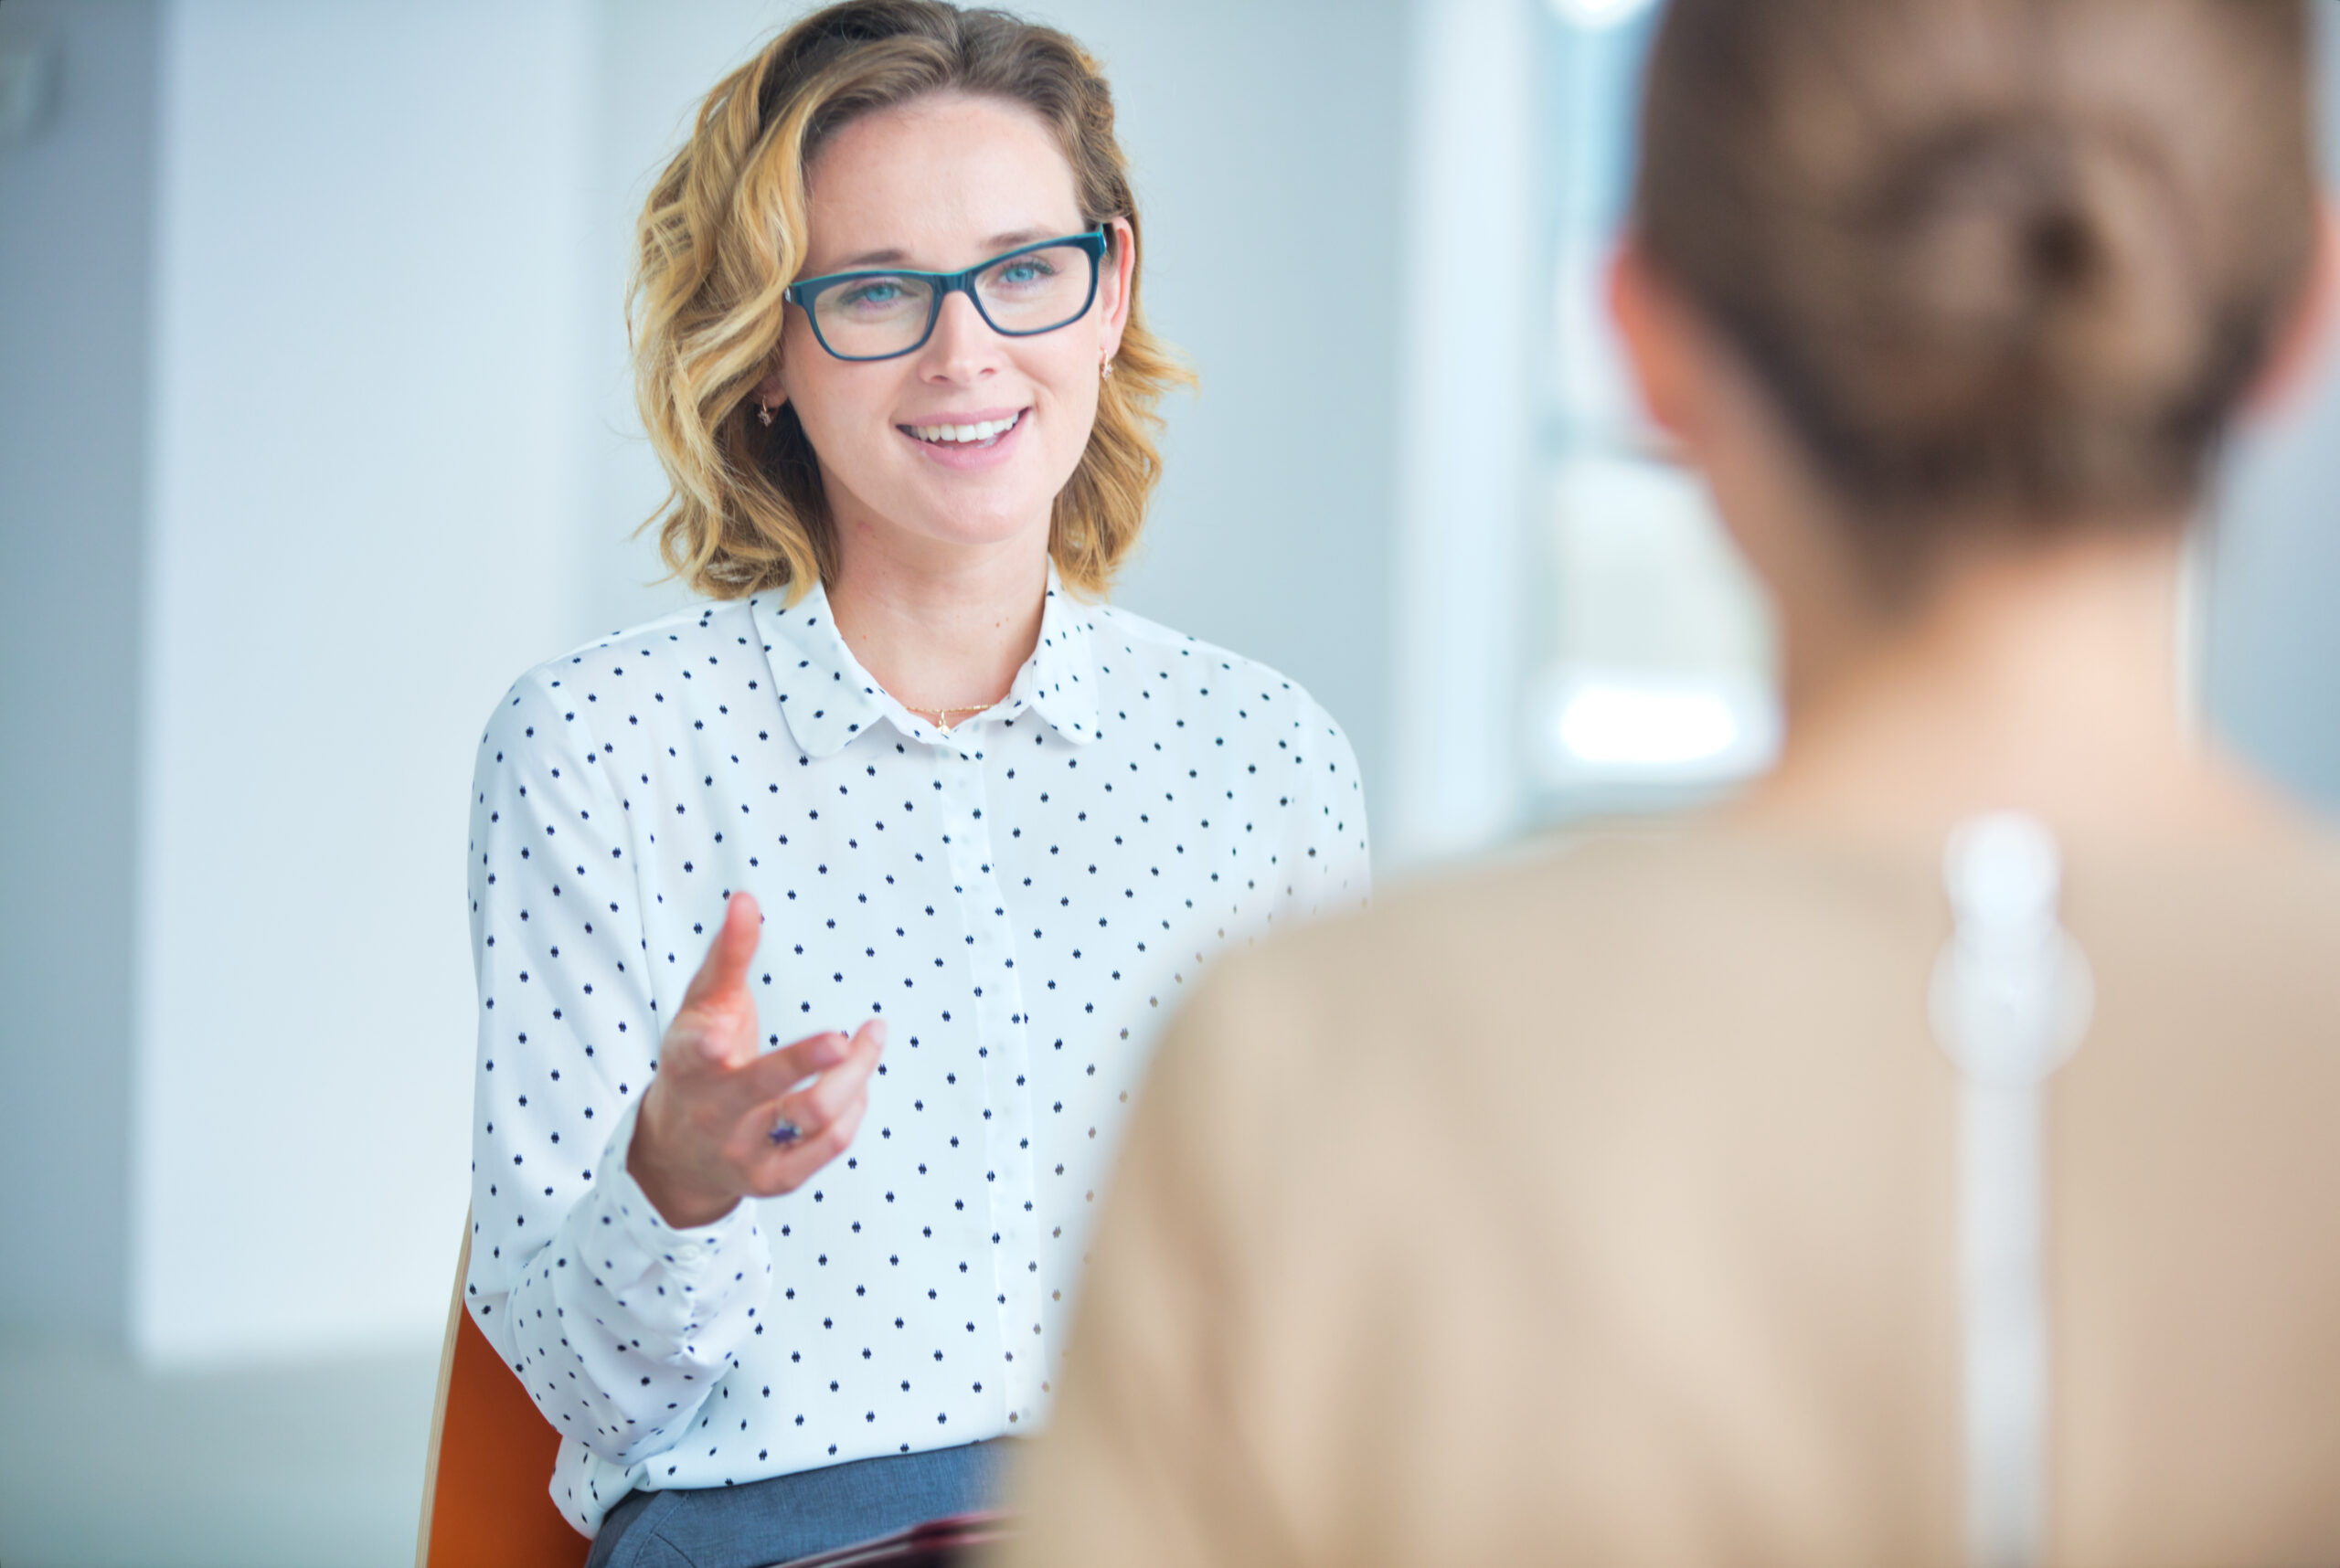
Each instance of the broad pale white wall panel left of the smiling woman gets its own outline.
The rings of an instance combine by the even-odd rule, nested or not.
[[[564,632],[587,26],[180,0],[164,49],[133,1332],[426,1336],[477,728]]]

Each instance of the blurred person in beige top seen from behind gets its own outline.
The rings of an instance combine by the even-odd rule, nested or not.
[[[2310,59],[1673,2],[1612,302],[1785,754],[1214,971],[1025,1568],[2340,1559],[2340,847],[2174,632],[2319,314]]]

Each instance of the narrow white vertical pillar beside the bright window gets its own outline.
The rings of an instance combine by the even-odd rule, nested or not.
[[[1521,798],[1535,398],[1537,49],[1519,0],[1418,0],[1406,147],[1404,421],[1381,864],[1505,838]],[[1512,307],[1488,311],[1488,300]],[[1491,321],[1493,316],[1493,321]],[[1505,330],[1509,325],[1509,330]]]

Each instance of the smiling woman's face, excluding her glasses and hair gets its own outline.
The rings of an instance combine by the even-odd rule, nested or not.
[[[936,94],[863,115],[821,147],[807,178],[800,276],[959,271],[1083,227],[1072,166],[1046,124],[997,98]],[[847,564],[861,545],[936,564],[1034,536],[1046,545],[1051,503],[1097,417],[1100,365],[1128,318],[1133,236],[1114,227],[1088,314],[1039,337],[1002,337],[952,293],[922,349],[840,360],[789,307],[779,367],[758,396],[796,407]],[[983,440],[945,431],[999,421],[1011,424]]]

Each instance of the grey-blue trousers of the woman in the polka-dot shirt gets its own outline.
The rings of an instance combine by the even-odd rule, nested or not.
[[[997,1507],[1013,1442],[880,1453],[746,1486],[636,1491],[601,1521],[585,1568],[768,1568]]]

